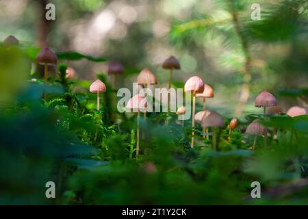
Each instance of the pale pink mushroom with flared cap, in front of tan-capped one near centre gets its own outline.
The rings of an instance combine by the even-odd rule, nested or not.
[[[140,131],[139,131],[139,123],[140,123],[140,110],[146,110],[148,107],[148,103],[146,102],[146,97],[141,94],[136,94],[133,96],[126,105],[129,110],[137,110],[137,147],[136,147],[136,156],[139,155],[139,139],[140,139]]]

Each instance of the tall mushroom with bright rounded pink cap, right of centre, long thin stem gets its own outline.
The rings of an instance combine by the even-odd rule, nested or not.
[[[194,147],[194,114],[196,111],[196,93],[202,93],[204,90],[204,84],[200,77],[190,77],[184,86],[185,92],[192,92],[192,148]]]

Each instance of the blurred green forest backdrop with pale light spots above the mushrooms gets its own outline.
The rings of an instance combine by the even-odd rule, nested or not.
[[[278,96],[279,90],[307,87],[307,1],[48,1],[55,4],[55,21],[43,19],[46,3],[1,0],[0,38],[12,34],[23,44],[48,42],[56,51],[117,60],[129,69],[119,79],[127,88],[136,80],[130,73],[145,67],[157,75],[157,87],[167,86],[161,65],[175,55],[181,70],[174,81],[201,76],[215,91],[209,107],[228,116],[257,112],[252,104],[237,105],[239,99],[253,103],[260,90]],[[251,19],[253,3],[261,6],[261,21]],[[83,79],[107,70],[107,62],[68,64]],[[243,83],[249,94],[241,94]],[[295,104],[278,99],[284,110]]]

